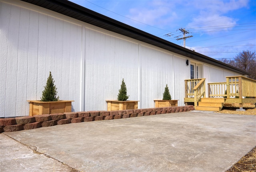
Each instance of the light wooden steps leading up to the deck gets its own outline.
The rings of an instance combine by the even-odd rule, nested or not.
[[[221,111],[225,99],[222,98],[202,98],[198,102],[198,106],[195,107],[195,110],[198,111]]]

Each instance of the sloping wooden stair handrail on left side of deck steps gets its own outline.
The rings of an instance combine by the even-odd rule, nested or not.
[[[196,84],[196,86],[193,88],[194,90],[194,107],[198,105],[198,101],[202,97],[205,97],[205,78],[202,78],[201,81]]]

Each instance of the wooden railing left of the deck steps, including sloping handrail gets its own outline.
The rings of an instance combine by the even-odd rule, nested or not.
[[[194,97],[194,106],[196,107],[201,97],[205,97],[205,78],[186,79],[185,93],[186,98]]]

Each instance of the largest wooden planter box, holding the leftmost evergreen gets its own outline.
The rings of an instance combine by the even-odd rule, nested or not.
[[[71,112],[72,101],[31,101],[29,102],[29,116]]]

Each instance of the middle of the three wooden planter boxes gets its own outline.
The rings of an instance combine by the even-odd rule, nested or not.
[[[138,101],[106,100],[106,102],[108,103],[108,111],[138,109]]]

